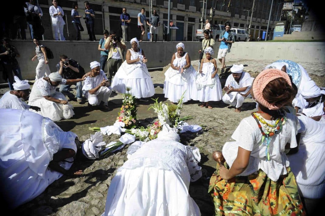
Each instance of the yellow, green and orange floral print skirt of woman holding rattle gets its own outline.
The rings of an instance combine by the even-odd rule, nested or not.
[[[226,162],[224,165],[229,168]],[[290,167],[277,182],[261,169],[226,181],[219,176],[219,167],[217,163],[208,190],[215,215],[306,215]]]

